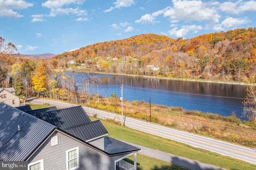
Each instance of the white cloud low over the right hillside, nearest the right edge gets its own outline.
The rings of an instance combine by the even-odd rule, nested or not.
[[[243,24],[251,22],[248,18],[232,18],[228,17],[221,24],[216,24],[213,29],[216,31],[223,31],[225,28],[238,27]]]

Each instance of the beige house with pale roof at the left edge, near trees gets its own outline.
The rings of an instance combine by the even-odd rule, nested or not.
[[[25,100],[15,95],[15,92],[13,87],[0,88],[0,102],[6,103],[12,107],[25,105]]]

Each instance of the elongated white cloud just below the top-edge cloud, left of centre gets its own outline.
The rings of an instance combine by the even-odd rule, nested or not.
[[[75,14],[77,16],[87,15],[86,10],[79,10],[78,8],[52,8],[50,12],[50,16],[57,16],[57,15],[70,15]]]

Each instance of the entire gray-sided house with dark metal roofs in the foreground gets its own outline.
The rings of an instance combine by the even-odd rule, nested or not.
[[[0,103],[0,161],[60,170],[136,170],[140,148],[110,138],[81,106],[31,110]],[[134,164],[123,159],[134,155]],[[125,168],[126,167],[126,168]]]

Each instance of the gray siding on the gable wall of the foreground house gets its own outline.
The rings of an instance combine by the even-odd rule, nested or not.
[[[58,145],[51,146],[51,137],[58,136]],[[114,161],[122,158],[125,154],[108,156],[98,150],[76,141],[61,132],[54,132],[44,144],[37,150],[28,163],[44,160],[44,169],[66,169],[66,150],[79,147],[79,170],[113,170]]]

